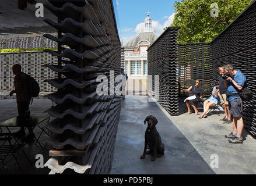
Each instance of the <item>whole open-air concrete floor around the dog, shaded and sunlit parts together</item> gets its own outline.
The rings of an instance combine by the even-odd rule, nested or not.
[[[165,144],[164,156],[155,162],[150,155],[139,159],[146,129],[143,120],[148,115],[157,117]],[[194,113],[170,116],[159,103],[148,102],[148,96],[127,96],[122,101],[111,174],[256,174],[256,140],[244,130],[244,144],[230,144],[224,136],[233,127],[219,121],[223,116],[223,112],[206,119]],[[211,168],[212,155],[218,155],[218,168]]]

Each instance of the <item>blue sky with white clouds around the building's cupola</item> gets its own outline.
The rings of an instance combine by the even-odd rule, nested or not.
[[[173,21],[174,3],[175,0],[113,0],[120,40],[125,44],[139,34],[147,12],[159,36]]]

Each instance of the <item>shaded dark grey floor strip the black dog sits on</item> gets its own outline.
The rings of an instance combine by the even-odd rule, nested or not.
[[[165,145],[164,156],[141,160],[146,116],[157,118],[156,126]],[[122,101],[111,174],[214,174],[197,150],[148,96],[126,96]]]

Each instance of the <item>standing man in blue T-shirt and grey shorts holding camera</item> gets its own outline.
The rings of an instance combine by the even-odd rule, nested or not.
[[[225,69],[228,74],[223,74],[224,84],[227,88],[227,99],[229,99],[229,113],[233,115],[233,132],[225,135],[232,144],[243,144],[242,131],[244,128],[243,121],[243,102],[239,96],[239,92],[247,83],[247,78],[240,70],[234,70],[233,65],[226,65]]]

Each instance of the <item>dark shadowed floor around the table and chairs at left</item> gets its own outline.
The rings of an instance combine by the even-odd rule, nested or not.
[[[10,119],[14,116],[17,116],[17,105],[16,105],[16,99],[0,99],[0,122],[5,121],[7,119]],[[44,113],[45,110],[48,108],[51,108],[52,102],[49,99],[34,99],[33,104],[30,105],[30,115],[33,116],[48,116],[48,113]],[[47,121],[43,121],[43,123],[40,124],[40,126],[44,126],[47,124]],[[5,130],[5,128],[3,128]],[[16,128],[10,128],[10,130],[15,131]],[[36,127],[34,128],[34,134],[36,137],[40,134],[41,130]],[[27,133],[27,130],[26,130]],[[44,134],[40,137],[40,143],[44,145],[45,140],[47,140],[48,135]],[[44,157],[44,163],[49,159],[48,151],[51,148],[50,145],[45,146],[45,151],[43,151],[38,144],[35,145],[35,140],[31,141],[29,144],[26,144],[23,146],[24,152],[29,156],[29,159],[32,164],[29,163],[29,161],[26,159],[26,156],[20,151],[18,162],[20,163],[20,166],[22,167],[22,171],[19,170],[19,167],[15,167],[15,161],[14,159],[11,159],[8,164],[6,164],[6,167],[8,167],[8,170],[4,169],[3,167],[0,167],[0,174],[48,174],[50,170],[46,167],[37,169],[36,164],[36,155],[41,154]]]

